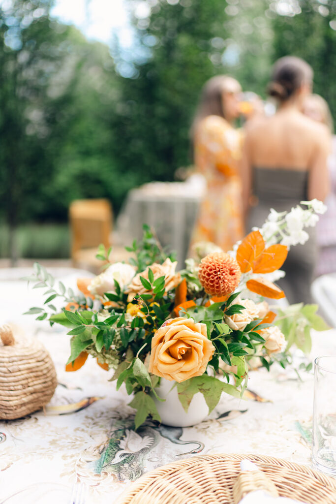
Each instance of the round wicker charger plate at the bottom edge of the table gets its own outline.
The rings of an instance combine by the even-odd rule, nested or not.
[[[248,459],[275,484],[279,495],[311,504],[335,504],[336,480],[282,459],[260,455],[205,455],[151,471],[116,504],[234,504],[240,461]]]

